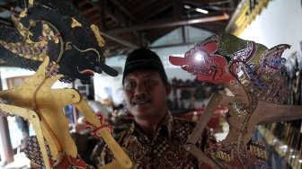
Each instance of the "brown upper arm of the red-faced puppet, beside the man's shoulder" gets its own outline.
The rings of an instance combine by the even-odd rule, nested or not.
[[[200,117],[200,120],[196,124],[195,128],[191,132],[189,139],[187,140],[186,144],[193,144],[195,145],[196,142],[200,139],[203,129],[205,129],[206,125],[208,124],[212,114],[215,112],[216,107],[222,100],[222,95],[220,93],[212,93],[209,98],[208,105]]]

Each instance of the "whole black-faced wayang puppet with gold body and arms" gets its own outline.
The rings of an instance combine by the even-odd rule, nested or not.
[[[51,89],[56,81],[80,79],[90,83],[93,73],[118,72],[105,65],[104,40],[97,26],[85,22],[66,1],[30,0],[21,13],[12,12],[15,28],[0,25],[0,57],[17,67],[35,70],[34,76],[10,90],[1,91],[4,111],[31,120],[36,137],[29,138],[26,156],[40,168],[91,168],[78,156],[63,107],[74,104],[88,129],[102,138],[116,160],[103,168],[129,168],[129,156],[111,137],[111,126],[96,114],[75,89]],[[101,167],[101,168],[102,168]]]

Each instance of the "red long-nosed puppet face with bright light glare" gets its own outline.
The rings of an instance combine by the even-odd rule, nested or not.
[[[221,84],[234,80],[229,76],[227,60],[217,54],[218,43],[210,41],[204,45],[197,45],[185,53],[184,58],[170,56],[174,66],[181,66],[183,70],[196,76],[200,82]]]

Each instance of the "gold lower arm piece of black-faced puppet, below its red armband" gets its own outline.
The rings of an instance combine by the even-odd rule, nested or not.
[[[130,168],[132,166],[132,162],[126,153],[121,149],[119,144],[112,138],[111,133],[108,129],[101,129],[100,136],[105,140],[108,147],[110,147],[113,155],[116,157],[117,161],[124,168]]]

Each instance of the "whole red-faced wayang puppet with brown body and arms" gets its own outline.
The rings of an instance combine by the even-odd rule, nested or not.
[[[187,140],[185,147],[191,154],[213,168],[268,167],[263,144],[250,141],[254,127],[302,118],[301,107],[281,104],[289,93],[286,59],[281,58],[285,49],[289,45],[267,49],[219,33],[187,51],[184,58],[170,56],[170,62],[196,76],[197,83],[218,89]],[[195,144],[218,104],[228,108],[229,133],[207,152],[201,152]]]

